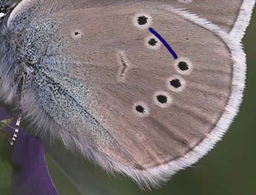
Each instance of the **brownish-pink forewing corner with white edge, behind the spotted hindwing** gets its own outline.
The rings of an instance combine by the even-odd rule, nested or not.
[[[165,2],[168,3],[167,1]],[[188,14],[199,16],[217,25],[223,31],[230,33],[232,39],[238,43],[241,41],[249,24],[254,5],[254,0],[175,0],[172,3],[172,6],[177,9],[187,11]],[[165,6],[164,9],[168,9],[168,6]],[[193,18],[193,15],[188,16],[188,18]]]

